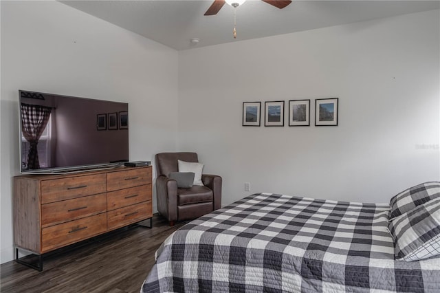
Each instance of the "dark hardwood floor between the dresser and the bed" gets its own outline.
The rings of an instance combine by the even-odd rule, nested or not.
[[[123,228],[43,257],[43,272],[15,261],[3,263],[0,292],[139,292],[157,248],[186,223],[170,227],[154,215],[151,229]]]

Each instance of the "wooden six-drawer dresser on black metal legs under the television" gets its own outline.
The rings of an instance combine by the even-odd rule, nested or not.
[[[153,217],[151,166],[14,177],[14,246],[41,254]],[[41,268],[40,268],[41,267]]]

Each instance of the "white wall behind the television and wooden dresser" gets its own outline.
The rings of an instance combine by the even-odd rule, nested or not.
[[[18,90],[129,102],[130,159],[177,144],[177,51],[56,1],[1,1],[1,263],[13,258]]]

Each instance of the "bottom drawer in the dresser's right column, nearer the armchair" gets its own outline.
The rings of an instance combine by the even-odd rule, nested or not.
[[[151,202],[118,208],[107,212],[107,230],[113,230],[153,217]]]

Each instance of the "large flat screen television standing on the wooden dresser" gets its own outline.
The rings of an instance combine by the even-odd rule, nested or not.
[[[21,173],[112,168],[129,160],[129,105],[19,91]]]

